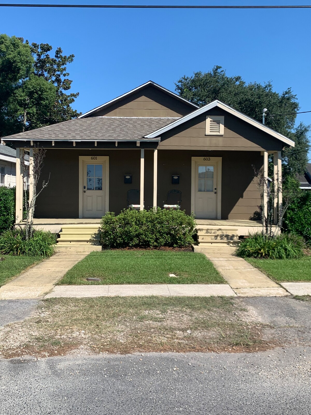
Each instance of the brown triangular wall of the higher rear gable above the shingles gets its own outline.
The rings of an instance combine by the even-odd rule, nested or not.
[[[91,117],[181,117],[195,110],[157,88],[148,86],[126,98],[98,110]]]

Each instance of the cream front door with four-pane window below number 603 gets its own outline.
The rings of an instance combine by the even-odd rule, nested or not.
[[[195,162],[194,214],[197,218],[217,217],[217,162]]]

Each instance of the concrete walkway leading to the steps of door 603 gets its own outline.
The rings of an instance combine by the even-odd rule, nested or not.
[[[270,280],[264,273],[250,265],[243,258],[233,256],[235,247],[198,247],[214,264],[234,292],[242,297],[279,297],[289,295],[284,288]]]

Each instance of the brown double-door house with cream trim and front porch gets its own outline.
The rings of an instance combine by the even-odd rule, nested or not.
[[[219,100],[199,108],[152,81],[77,119],[3,140],[17,149],[18,171],[24,149],[30,160],[35,147],[46,149],[42,179],[50,176],[50,181],[37,199],[35,224],[61,231],[64,244],[89,242],[83,232],[98,228],[105,212],[126,208],[131,189],[139,191],[140,209],[162,207],[169,190],[180,190],[181,208],[196,215],[200,243],[259,230],[260,223],[250,220],[261,204],[254,168],[267,177],[273,154],[280,182],[281,151],[294,146]],[[21,180],[18,174],[17,224],[22,222]],[[281,205],[279,188],[275,221]]]

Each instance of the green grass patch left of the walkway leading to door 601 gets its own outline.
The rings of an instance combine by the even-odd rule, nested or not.
[[[4,258],[2,260],[2,258]],[[6,284],[29,266],[42,261],[41,256],[0,255],[0,286]]]

